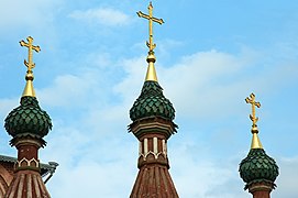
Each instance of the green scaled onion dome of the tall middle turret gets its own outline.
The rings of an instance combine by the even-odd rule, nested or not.
[[[164,97],[163,88],[157,81],[146,80],[143,85],[140,97],[130,110],[132,121],[146,117],[162,117],[166,120],[174,120],[175,109],[172,102]]]

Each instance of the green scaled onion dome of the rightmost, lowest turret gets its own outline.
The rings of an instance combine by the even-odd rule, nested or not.
[[[257,182],[274,183],[278,176],[278,166],[263,148],[252,148],[246,158],[240,163],[239,172],[247,185]]]

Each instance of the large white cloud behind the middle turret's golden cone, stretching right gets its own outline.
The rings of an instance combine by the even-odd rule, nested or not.
[[[214,118],[242,112],[244,98],[252,91],[257,95],[278,91],[291,84],[298,74],[294,65],[282,63],[263,67],[260,62],[262,58],[257,52],[244,51],[232,55],[209,51],[185,56],[169,67],[157,63],[156,70],[164,94],[178,114]],[[146,65],[145,57],[123,63],[128,76],[114,90],[126,102],[133,102],[139,96]]]

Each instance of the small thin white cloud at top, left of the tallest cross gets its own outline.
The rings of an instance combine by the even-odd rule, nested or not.
[[[111,8],[98,8],[85,11],[75,10],[69,14],[69,16],[79,21],[106,26],[124,25],[130,21],[130,18],[125,13]]]

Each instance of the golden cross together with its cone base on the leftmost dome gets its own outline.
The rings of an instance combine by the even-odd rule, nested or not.
[[[23,40],[20,41],[21,46],[27,47],[27,62],[24,59],[24,65],[27,67],[27,72],[26,72],[26,76],[25,76],[26,86],[24,88],[22,96],[23,97],[24,96],[35,97],[35,91],[33,88],[34,76],[33,76],[33,70],[32,70],[35,67],[35,63],[33,63],[33,51],[38,53],[41,51],[41,47],[37,45],[36,46],[33,45],[33,37],[31,37],[31,36],[27,36],[26,41],[27,41],[27,43],[24,42]]]

